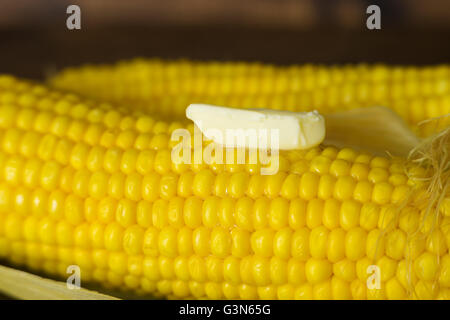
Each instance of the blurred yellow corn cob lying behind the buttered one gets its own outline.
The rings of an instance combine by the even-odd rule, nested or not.
[[[386,106],[421,136],[450,125],[450,67],[272,66],[135,59],[68,68],[49,83],[59,89],[120,103],[168,120],[184,119],[190,103],[290,111]]]

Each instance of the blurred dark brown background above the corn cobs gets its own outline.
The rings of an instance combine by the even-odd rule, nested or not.
[[[66,28],[71,4],[81,30]],[[31,78],[136,56],[438,64],[449,39],[449,0],[0,0],[0,72]]]

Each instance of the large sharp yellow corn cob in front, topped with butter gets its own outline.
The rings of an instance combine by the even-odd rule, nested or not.
[[[450,210],[424,219],[425,169],[325,146],[273,175],[183,164],[183,126],[0,77],[0,256],[154,297],[450,298]]]

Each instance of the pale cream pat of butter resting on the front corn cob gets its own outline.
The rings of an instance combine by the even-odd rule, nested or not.
[[[325,119],[317,111],[290,112],[191,104],[186,117],[214,142],[226,147],[308,149],[325,138]]]

